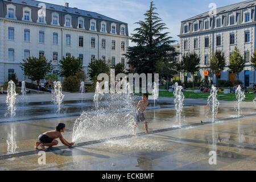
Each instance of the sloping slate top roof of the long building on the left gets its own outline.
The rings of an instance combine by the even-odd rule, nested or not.
[[[55,5],[52,3],[46,3],[46,2],[34,1],[34,0],[3,0],[3,1],[9,2],[9,3],[13,2],[13,3],[20,4],[20,5],[34,6],[34,7],[38,7],[39,3],[44,3],[46,5],[46,9],[49,9],[49,10],[61,11],[63,13],[87,16],[89,18],[97,18],[97,19],[108,20],[108,21],[117,22],[117,23],[124,23],[119,20],[109,18],[108,16],[94,13],[92,11],[85,11],[85,10],[77,9],[75,7],[65,7],[65,6],[61,6],[61,5]],[[127,23],[125,23],[125,24],[127,24]]]

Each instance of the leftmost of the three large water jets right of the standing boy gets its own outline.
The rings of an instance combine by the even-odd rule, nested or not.
[[[175,103],[175,110],[176,110],[176,118],[177,122],[179,122],[179,127],[181,128],[181,112],[183,109],[183,101],[184,101],[184,94],[182,92],[182,86],[179,86],[177,82],[175,83],[174,89],[174,103]]]

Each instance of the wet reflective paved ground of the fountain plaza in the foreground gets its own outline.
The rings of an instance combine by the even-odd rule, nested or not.
[[[74,104],[78,105],[75,110],[80,113],[77,109],[80,108],[79,103],[68,104],[71,104],[71,107],[74,107]],[[146,118],[149,121],[150,131],[177,126],[175,110],[170,106],[170,103],[167,103],[162,104],[158,109],[147,110]],[[28,107],[31,109],[31,106]],[[47,113],[40,107],[34,109],[38,113],[45,115]],[[51,110],[50,107],[46,109]],[[221,106],[217,123],[195,125],[210,120],[209,107],[185,106],[182,125],[190,127],[163,130],[137,137],[104,140],[76,148],[61,148],[59,145],[47,152],[47,164],[44,166],[38,164],[39,156],[34,152],[14,160],[0,160],[0,170],[255,170],[256,114],[249,115],[252,113],[256,113],[254,108],[246,108],[242,111],[245,117],[238,119],[232,105]],[[67,125],[68,130],[64,137],[71,140],[76,118],[76,116],[67,116],[14,122],[19,147],[17,151],[32,151],[38,135],[47,130],[54,130],[59,122]],[[9,127],[9,122],[0,123],[0,155],[6,154],[6,136]],[[138,127],[138,133],[142,133],[143,125]],[[92,138],[97,140],[129,135],[129,132],[122,128],[101,129],[100,133],[93,132],[88,131],[91,136],[84,138],[83,142]],[[210,151],[217,152],[217,165],[209,165]]]

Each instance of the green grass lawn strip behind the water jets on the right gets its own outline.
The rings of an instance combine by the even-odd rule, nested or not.
[[[204,99],[207,100],[210,96],[210,93],[193,93],[193,92],[184,92],[185,98],[193,98],[193,99]],[[253,101],[256,97],[254,94],[246,93],[245,101]],[[174,97],[174,93],[167,91],[159,91],[159,97]],[[218,93],[218,100],[220,101],[236,101],[236,94],[224,94]]]

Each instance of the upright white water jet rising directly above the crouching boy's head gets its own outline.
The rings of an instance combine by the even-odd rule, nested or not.
[[[56,113],[60,114],[62,105],[63,105],[63,98],[64,94],[62,93],[62,86],[61,82],[57,81],[56,84],[54,84],[54,90],[53,90],[53,103],[56,105]]]

